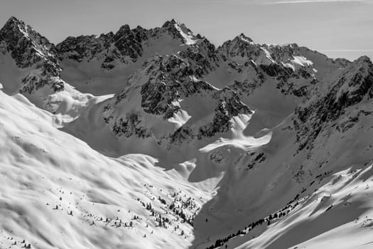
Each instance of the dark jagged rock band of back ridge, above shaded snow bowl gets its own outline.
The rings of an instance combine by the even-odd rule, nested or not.
[[[131,29],[129,25],[119,28],[117,33],[109,32],[100,36],[68,37],[57,45],[61,60],[70,59],[77,62],[97,60],[104,70],[112,70],[116,65],[131,65],[140,58],[146,59],[153,53],[161,51],[152,47],[168,46],[170,41],[175,44],[189,44],[197,41],[196,36],[184,24],[175,20],[166,21],[161,28],[145,29],[141,26]],[[189,41],[189,40],[190,41]],[[171,46],[172,47],[172,46]],[[172,50],[172,48],[171,48]],[[149,55],[144,58],[144,51]]]

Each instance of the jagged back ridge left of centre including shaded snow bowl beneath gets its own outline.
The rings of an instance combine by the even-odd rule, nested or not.
[[[56,48],[63,78],[82,92],[104,95],[123,90],[127,78],[156,53],[193,53],[189,47],[196,43],[206,51],[215,49],[206,38],[171,20],[161,28],[124,25],[116,33],[68,37]]]

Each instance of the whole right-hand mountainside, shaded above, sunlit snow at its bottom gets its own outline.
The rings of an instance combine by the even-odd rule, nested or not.
[[[360,220],[372,215],[367,197],[370,192],[365,191],[369,188],[370,180],[367,179],[372,179],[371,174],[364,173],[362,179],[355,181],[356,185],[349,185],[359,176],[357,172],[371,172],[367,169],[372,160],[372,142],[369,139],[372,132],[369,125],[372,122],[372,63],[367,58],[360,58],[342,70],[340,75],[343,75],[343,80],[329,85],[334,90],[320,92],[315,88],[293,115],[272,130],[268,144],[242,154],[237,163],[229,168],[220,182],[217,196],[204,206],[204,212],[196,218],[196,226],[201,227],[195,231],[195,245],[213,245],[213,233],[225,231],[217,236],[217,240],[227,238],[229,234],[237,233],[237,226],[232,224],[240,223],[240,229],[246,231],[246,239],[256,238],[265,231],[263,237],[260,235],[253,240],[255,242],[242,248],[290,248],[356,218]],[[357,91],[360,92],[358,98],[354,97]],[[346,97],[340,97],[344,95],[342,92]],[[315,97],[320,93],[328,97]],[[323,101],[316,104],[312,100]],[[329,103],[333,108],[330,106],[320,112],[320,108]],[[308,108],[308,111],[302,112],[303,108]],[[328,115],[328,112],[333,116],[323,119],[320,114]],[[303,119],[305,113],[310,116]],[[345,181],[335,184],[341,177]],[[358,185],[361,189],[355,191],[355,195],[345,197],[342,194]],[[309,213],[315,208],[315,199],[330,195],[338,197],[330,198],[316,208],[326,211],[331,206],[338,210],[335,216],[332,215],[333,208],[328,211],[331,214],[328,218],[330,223],[326,226],[323,212],[315,211],[316,215],[312,217]],[[350,198],[353,201],[347,204],[352,206],[343,209]],[[232,206],[235,211],[232,211]],[[293,211],[295,206],[297,211]],[[346,216],[341,214],[344,212]],[[270,221],[274,228],[266,226],[269,215],[274,217],[275,213],[276,216],[281,213],[281,217]],[[204,222],[206,217],[210,224]],[[249,231],[250,225],[261,219],[261,225]],[[309,230],[308,224],[313,224]],[[273,230],[281,227],[284,230]],[[356,233],[364,236],[364,230]],[[333,233],[325,235],[325,240],[330,239],[329,235]],[[242,243],[244,239],[232,239],[235,240]],[[335,246],[338,245],[336,242]],[[350,245],[350,248],[354,247]]]

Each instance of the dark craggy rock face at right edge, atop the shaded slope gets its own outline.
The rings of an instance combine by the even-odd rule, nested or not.
[[[348,65],[331,82],[318,85],[308,100],[296,108],[294,125],[301,142],[300,149],[311,144],[328,125],[342,125],[342,131],[345,131],[357,122],[360,113],[369,113],[370,110],[360,110],[357,117],[349,118],[348,125],[337,121],[345,115],[347,108],[372,99],[372,84],[373,65],[369,58],[363,56]]]

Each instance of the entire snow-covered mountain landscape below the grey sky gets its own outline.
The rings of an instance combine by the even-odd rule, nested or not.
[[[367,57],[10,18],[0,83],[0,247],[371,246]]]

